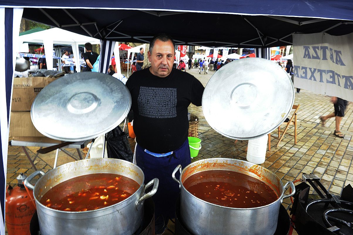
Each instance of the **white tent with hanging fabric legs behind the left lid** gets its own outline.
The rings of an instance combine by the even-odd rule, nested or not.
[[[52,52],[53,51],[53,44],[65,44],[72,46],[72,52],[74,55],[75,63],[79,64],[79,51],[78,45],[85,44],[86,42],[90,42],[91,44],[100,44],[99,39],[95,39],[94,37],[88,37],[76,33],[72,33],[70,31],[59,29],[59,28],[52,28],[47,29],[31,34],[25,34],[19,36],[19,46],[22,45],[23,42],[33,42],[33,43],[43,43],[44,44],[44,51]],[[58,55],[61,57],[61,55]],[[48,70],[53,69],[53,54],[47,53],[47,68]],[[80,66],[76,66],[76,71],[80,71]]]

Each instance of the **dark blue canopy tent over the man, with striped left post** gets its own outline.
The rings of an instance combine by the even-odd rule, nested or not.
[[[13,39],[18,36],[19,29],[16,17],[23,16],[96,37],[110,48],[112,41],[113,44],[115,41],[145,43],[161,32],[172,35],[179,45],[245,48],[290,45],[293,33],[345,35],[353,32],[352,0],[0,0],[0,15],[5,19],[4,26],[0,27],[1,34],[5,35],[5,39],[0,38],[3,56],[0,58],[3,68],[0,70],[2,190],[6,186],[8,127],[16,57]],[[4,191],[0,195],[1,221],[4,222]],[[5,233],[1,222],[0,232]]]

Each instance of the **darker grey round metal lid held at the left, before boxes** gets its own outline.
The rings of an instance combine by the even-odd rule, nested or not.
[[[62,141],[93,139],[118,126],[131,106],[124,83],[97,72],[58,78],[35,98],[31,118],[45,136]]]

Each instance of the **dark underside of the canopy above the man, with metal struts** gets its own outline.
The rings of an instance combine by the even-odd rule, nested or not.
[[[282,46],[292,33],[353,32],[349,20],[221,13],[25,8],[23,17],[100,39],[144,43],[163,32],[177,44],[209,47]]]

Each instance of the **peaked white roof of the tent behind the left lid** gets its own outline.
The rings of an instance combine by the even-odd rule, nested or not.
[[[31,34],[25,34],[19,36],[20,44],[22,42],[36,42],[42,43],[44,40],[52,40],[54,44],[71,44],[73,42],[78,44],[85,44],[86,42],[90,42],[91,44],[100,44],[99,39],[95,39],[94,37],[88,37],[76,33],[72,33],[70,31],[66,31],[64,29],[52,28],[47,29]]]

